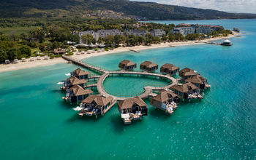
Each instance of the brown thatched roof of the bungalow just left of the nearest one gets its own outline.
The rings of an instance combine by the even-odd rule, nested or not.
[[[92,102],[97,103],[97,105],[105,106],[113,100],[113,97],[103,97],[102,95],[89,95],[83,100],[85,104],[91,104]]]

